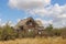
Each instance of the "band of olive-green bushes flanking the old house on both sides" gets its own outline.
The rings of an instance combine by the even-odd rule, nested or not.
[[[66,28],[53,29],[53,24],[50,24],[46,29],[47,36],[62,36],[66,37]],[[9,24],[0,28],[0,41],[8,41],[22,37],[35,37],[35,31],[31,30],[15,32]]]

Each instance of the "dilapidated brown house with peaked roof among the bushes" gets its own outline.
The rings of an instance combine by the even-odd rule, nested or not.
[[[41,21],[36,21],[33,18],[28,18],[24,20],[21,20],[14,28],[19,32],[34,32],[35,35],[45,35],[47,33],[44,33],[44,26]]]

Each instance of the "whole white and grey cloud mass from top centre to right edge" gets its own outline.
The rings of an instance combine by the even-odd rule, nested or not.
[[[46,16],[48,21],[42,20],[45,24],[53,22],[54,26],[66,25],[66,4],[51,4],[51,0],[9,0],[11,8],[16,8],[31,14]],[[51,19],[52,20],[51,20]]]

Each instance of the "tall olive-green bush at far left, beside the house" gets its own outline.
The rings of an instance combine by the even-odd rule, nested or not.
[[[14,38],[15,38],[15,33],[10,25],[7,24],[0,30],[0,40],[7,41],[7,40],[14,40]]]

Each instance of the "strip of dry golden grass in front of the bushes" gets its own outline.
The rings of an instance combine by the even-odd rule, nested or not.
[[[16,38],[14,41],[1,41],[0,44],[66,44],[66,40],[62,37]]]

